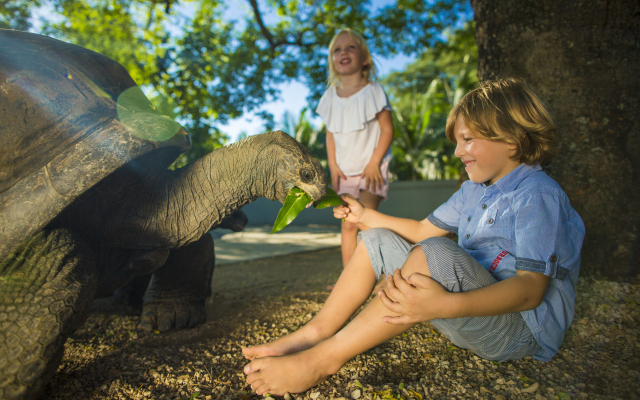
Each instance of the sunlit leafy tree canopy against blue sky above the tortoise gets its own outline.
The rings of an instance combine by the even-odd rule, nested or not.
[[[361,32],[374,54],[409,54],[434,46],[471,13],[463,0],[382,8],[361,0],[246,0],[248,12],[232,21],[217,0],[8,0],[0,27],[30,28],[41,6],[54,12],[40,33],[113,58],[157,106],[179,115],[194,139],[183,162],[223,144],[219,124],[277,97],[281,82],[300,80],[317,100],[337,30]]]

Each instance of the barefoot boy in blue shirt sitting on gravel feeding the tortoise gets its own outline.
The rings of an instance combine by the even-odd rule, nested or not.
[[[489,360],[548,361],[557,353],[573,320],[584,224],[540,167],[555,152],[550,113],[524,82],[487,81],[451,110],[446,132],[470,180],[423,221],[343,197],[336,218],[384,229],[360,233],[307,325],[243,349],[258,394],[307,390],[421,321]],[[458,244],[442,237],[448,232]],[[340,329],[382,273],[384,292]]]

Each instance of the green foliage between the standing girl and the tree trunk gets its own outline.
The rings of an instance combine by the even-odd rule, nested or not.
[[[457,179],[462,166],[445,135],[447,115],[477,84],[473,23],[427,49],[404,71],[386,77],[393,106],[391,171],[395,180]]]

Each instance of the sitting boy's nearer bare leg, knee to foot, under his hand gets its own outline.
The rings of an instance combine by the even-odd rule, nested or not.
[[[360,248],[360,244],[358,246]],[[401,271],[403,276],[413,272],[428,274],[421,249],[411,252]],[[271,393],[282,396],[286,392],[305,391],[336,373],[351,358],[413,326],[392,325],[382,320],[385,316],[396,315],[376,297],[340,332],[316,346],[283,357],[253,360],[244,369],[248,375],[247,382],[259,395]]]

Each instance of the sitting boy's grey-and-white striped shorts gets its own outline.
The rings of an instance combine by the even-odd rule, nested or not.
[[[401,269],[413,248],[420,246],[431,277],[449,292],[466,292],[497,281],[457,243],[436,237],[411,246],[386,229],[361,231],[376,278]],[[492,317],[434,319],[430,321],[454,345],[495,361],[517,360],[533,355],[540,345],[519,312]]]

